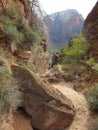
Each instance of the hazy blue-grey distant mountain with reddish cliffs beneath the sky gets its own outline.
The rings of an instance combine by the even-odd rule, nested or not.
[[[81,32],[84,18],[74,9],[56,12],[45,17],[49,39],[61,48],[71,37]]]

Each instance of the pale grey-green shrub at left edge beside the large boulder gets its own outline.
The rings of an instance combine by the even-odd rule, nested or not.
[[[0,57],[0,118],[9,108],[17,109],[21,104],[19,85],[12,77],[11,70],[5,58]]]

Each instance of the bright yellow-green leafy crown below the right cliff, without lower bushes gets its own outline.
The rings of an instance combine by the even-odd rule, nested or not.
[[[58,53],[60,61],[66,62],[78,62],[82,56],[86,54],[88,44],[82,34],[78,34],[73,37],[70,42]]]

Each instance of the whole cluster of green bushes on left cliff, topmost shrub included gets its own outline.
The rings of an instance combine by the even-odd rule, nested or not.
[[[0,18],[0,30],[6,37],[4,43],[15,43],[17,48],[30,49],[40,40],[39,32],[32,29],[29,22],[23,19],[21,9],[14,3],[4,7]]]

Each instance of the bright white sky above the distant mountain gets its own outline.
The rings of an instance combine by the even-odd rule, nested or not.
[[[92,10],[97,0],[39,0],[47,14],[66,9],[76,9],[84,18]]]

